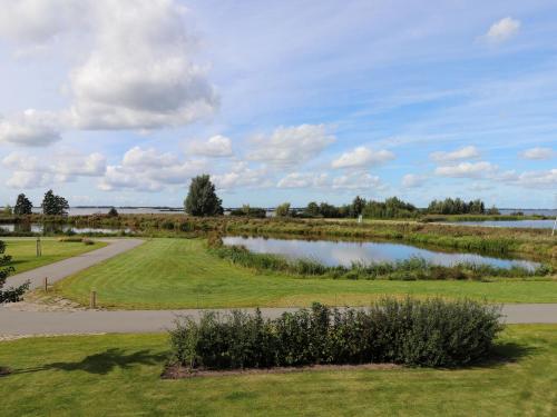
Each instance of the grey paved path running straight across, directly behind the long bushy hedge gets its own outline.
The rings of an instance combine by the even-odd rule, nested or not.
[[[252,309],[246,309],[251,311]],[[292,308],[263,308],[265,317],[276,317]],[[135,311],[16,311],[0,308],[0,335],[61,335],[88,332],[153,332],[173,326],[177,315],[199,317],[202,310]],[[224,310],[218,310],[224,311]],[[505,305],[508,324],[557,324],[556,304]]]

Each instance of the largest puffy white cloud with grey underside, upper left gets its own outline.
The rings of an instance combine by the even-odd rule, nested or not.
[[[195,42],[183,7],[168,0],[94,4],[95,47],[70,77],[78,127],[154,129],[214,111],[206,70],[192,62]]]

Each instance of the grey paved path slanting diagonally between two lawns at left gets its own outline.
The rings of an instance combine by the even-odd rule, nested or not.
[[[17,274],[8,278],[7,287],[19,286],[30,281],[30,289],[40,288],[43,285],[45,277],[52,284],[70,275],[79,272],[86,268],[109,259],[116,255],[123,254],[144,242],[140,239],[97,239],[106,241],[109,245],[104,248],[91,250],[72,258],[63,259],[58,262],[49,264],[43,267],[32,269],[26,272]]]

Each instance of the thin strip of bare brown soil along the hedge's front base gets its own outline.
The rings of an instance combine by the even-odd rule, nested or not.
[[[316,370],[385,370],[400,369],[402,366],[395,364],[362,364],[362,365],[312,365],[299,367],[275,367],[275,368],[250,368],[250,369],[189,369],[182,366],[169,366],[162,375],[163,379],[183,379],[196,377],[226,377],[234,375],[267,375],[267,374],[290,374],[307,373]]]

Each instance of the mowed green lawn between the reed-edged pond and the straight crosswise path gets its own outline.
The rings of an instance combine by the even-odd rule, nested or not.
[[[257,272],[207,254],[199,239],[154,239],[55,286],[106,308],[287,307],[312,301],[365,305],[385,294],[470,297],[497,302],[557,302],[557,280],[388,281],[299,278]]]

